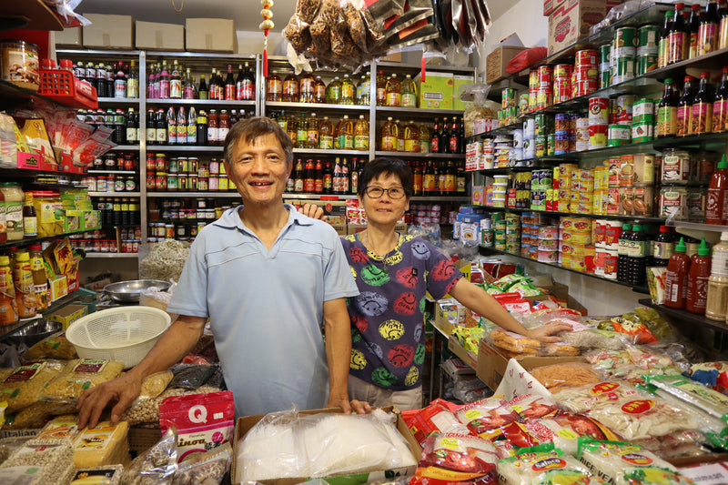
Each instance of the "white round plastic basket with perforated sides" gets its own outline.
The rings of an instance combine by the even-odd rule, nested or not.
[[[109,359],[136,366],[169,327],[166,311],[151,307],[109,308],[79,318],[66,338],[82,359]]]

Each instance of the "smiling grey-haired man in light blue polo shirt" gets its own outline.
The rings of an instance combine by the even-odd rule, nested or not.
[[[238,416],[291,403],[369,410],[367,403],[349,402],[345,298],[359,290],[339,237],[325,222],[283,204],[293,164],[290,138],[268,118],[249,118],[233,126],[224,150],[243,205],[200,231],[167,307],[180,317],[134,369],[86,391],[79,427],[96,425],[111,401],[116,422],[145,377],[195,346],[207,318]]]

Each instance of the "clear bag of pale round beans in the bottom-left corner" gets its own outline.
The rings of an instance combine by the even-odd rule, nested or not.
[[[29,440],[0,465],[0,483],[23,476],[27,485],[67,483],[74,472],[71,440]]]

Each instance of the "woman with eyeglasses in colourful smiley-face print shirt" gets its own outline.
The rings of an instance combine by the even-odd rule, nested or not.
[[[543,342],[570,330],[564,323],[529,330],[482,288],[462,278],[450,258],[420,237],[394,230],[410,208],[412,171],[398,158],[379,157],[364,166],[357,197],[367,213],[367,228],[341,237],[359,296],[347,298],[351,320],[349,398],[372,406],[422,407],[425,359],[424,308],[429,291],[439,299],[450,293],[485,318]],[[322,211],[304,207],[320,217]]]

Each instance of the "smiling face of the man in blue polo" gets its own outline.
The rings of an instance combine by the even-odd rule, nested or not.
[[[286,189],[292,164],[272,133],[248,144],[238,138],[232,159],[226,160],[227,177],[235,182],[243,204],[266,206],[279,203]]]

